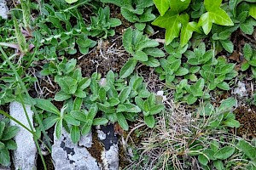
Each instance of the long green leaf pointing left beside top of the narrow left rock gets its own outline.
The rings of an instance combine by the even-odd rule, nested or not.
[[[61,112],[47,99],[35,99],[37,102],[36,106],[44,111],[49,111],[56,115],[61,115]]]

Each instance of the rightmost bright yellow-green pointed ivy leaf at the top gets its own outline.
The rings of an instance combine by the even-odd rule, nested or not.
[[[208,34],[212,29],[212,23],[221,26],[234,26],[234,23],[230,19],[229,14],[227,14],[222,8],[222,0],[205,0],[204,5],[207,9],[207,13],[202,14],[198,22],[198,26],[202,26],[205,34]]]

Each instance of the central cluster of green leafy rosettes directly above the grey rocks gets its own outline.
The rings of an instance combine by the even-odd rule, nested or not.
[[[69,75],[56,81],[61,91],[55,94],[55,101],[64,101],[61,111],[47,99],[36,99],[36,106],[50,115],[43,120],[44,128],[55,125],[57,138],[61,137],[62,127],[71,134],[73,143],[79,141],[80,134],[89,133],[92,125],[118,122],[128,130],[127,120],[136,121],[141,112],[148,127],[154,127],[154,115],[165,109],[146,89],[143,77],[133,76],[125,82],[108,71],[106,78],[100,78],[98,73],[84,78],[79,69]]]

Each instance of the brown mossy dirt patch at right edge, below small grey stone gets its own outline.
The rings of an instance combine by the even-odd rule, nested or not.
[[[234,113],[236,120],[241,123],[237,135],[247,139],[256,138],[256,107],[239,106]]]

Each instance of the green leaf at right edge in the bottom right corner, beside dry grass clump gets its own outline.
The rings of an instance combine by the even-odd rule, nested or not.
[[[249,157],[252,161],[256,162],[256,147],[253,147],[252,144],[249,144],[243,139],[239,140],[237,147],[242,150],[245,155]]]

